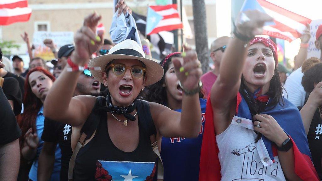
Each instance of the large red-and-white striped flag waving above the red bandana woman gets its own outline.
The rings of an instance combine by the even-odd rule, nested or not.
[[[299,38],[303,30],[306,29],[306,24],[310,24],[312,21],[266,0],[246,0],[243,4],[242,11],[252,9],[265,12],[274,18],[275,24],[269,24],[263,27],[264,35],[280,38],[289,42]]]

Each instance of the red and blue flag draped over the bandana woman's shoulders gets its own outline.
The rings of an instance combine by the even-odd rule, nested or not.
[[[291,138],[293,142],[295,173],[303,181],[318,181],[298,109],[288,100],[284,99],[283,107],[278,104],[274,109],[262,113],[271,115]],[[237,95],[236,114],[238,117],[251,119],[248,118],[251,115],[248,105],[240,93]],[[213,108],[210,96],[207,100],[205,117],[207,120],[213,120]],[[271,141],[264,136],[262,136],[262,139],[270,158],[274,160],[274,150],[272,149]],[[206,121],[201,146],[199,181],[221,180],[221,167],[218,153],[219,149],[216,142],[213,121]]]

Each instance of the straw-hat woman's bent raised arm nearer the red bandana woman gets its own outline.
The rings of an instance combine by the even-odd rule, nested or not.
[[[201,109],[198,94],[198,83],[202,75],[197,54],[186,53],[184,58],[172,58],[175,73],[185,90],[194,91],[193,95],[183,94],[181,113],[166,106],[150,103],[152,118],[156,128],[165,137],[197,137],[201,128]]]

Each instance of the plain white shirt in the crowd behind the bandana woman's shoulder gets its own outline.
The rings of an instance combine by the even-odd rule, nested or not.
[[[302,67],[293,71],[285,81],[283,95],[296,107],[303,106],[305,101],[306,92],[302,86]]]

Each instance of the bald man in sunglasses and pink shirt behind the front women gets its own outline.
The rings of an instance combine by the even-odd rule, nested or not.
[[[223,58],[223,53],[225,51],[225,48],[228,45],[228,42],[230,40],[230,37],[228,36],[222,36],[217,38],[210,47],[210,57],[213,60],[213,64],[215,68],[207,73],[205,73],[203,76],[201,76],[201,82],[203,84],[203,89],[205,96],[208,97],[211,87],[213,86],[213,83],[216,81],[217,76],[219,74],[219,67],[220,62]]]

